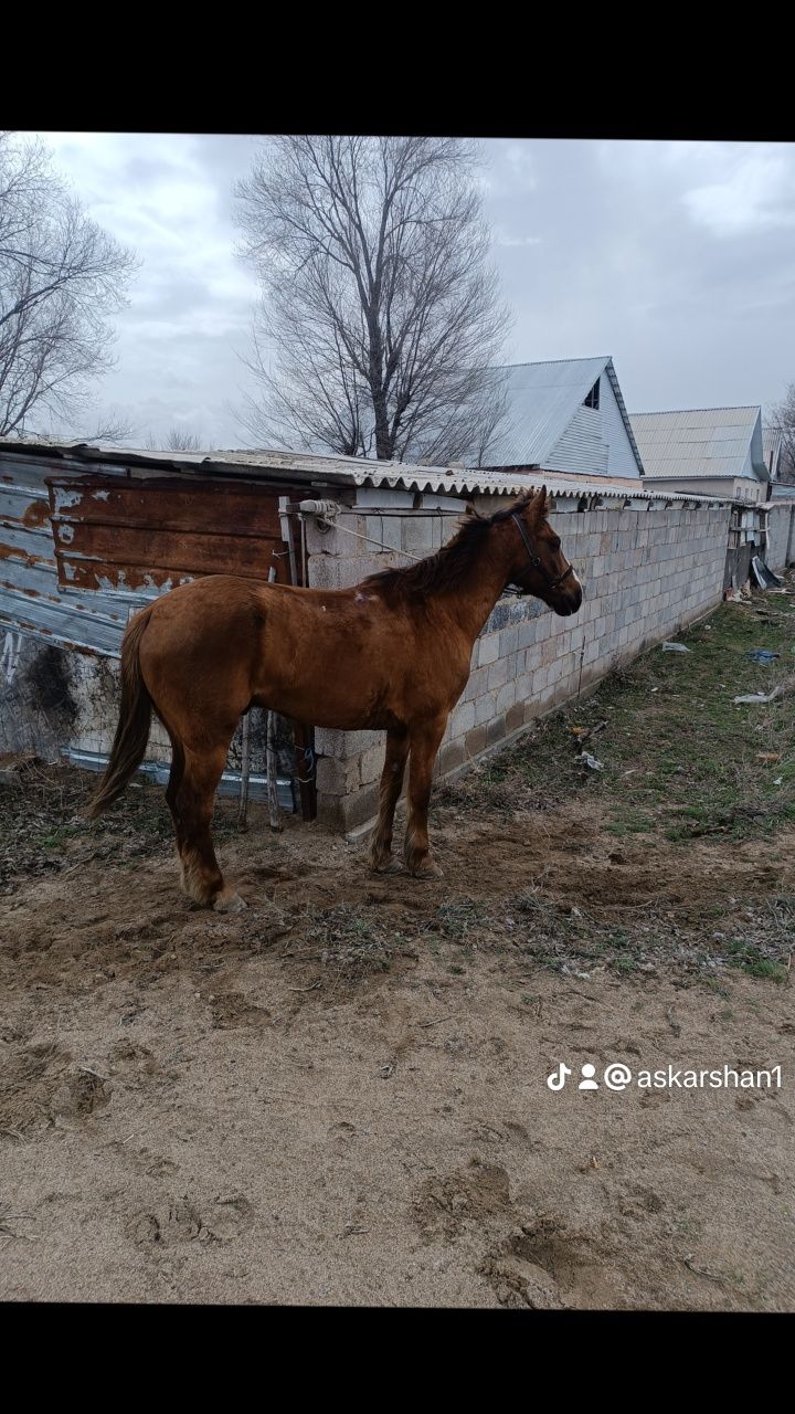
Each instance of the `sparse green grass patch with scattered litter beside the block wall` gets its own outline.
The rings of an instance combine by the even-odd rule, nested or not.
[[[659,831],[672,843],[737,840],[795,823],[795,697],[733,701],[795,676],[791,602],[758,594],[753,607],[724,604],[679,635],[689,653],[655,646],[611,673],[591,697],[492,758],[478,773],[472,803],[488,809],[497,796],[498,807],[549,807],[590,796],[607,807],[611,834]],[[747,658],[753,648],[781,656],[762,666]],[[604,771],[576,761],[583,748]]]

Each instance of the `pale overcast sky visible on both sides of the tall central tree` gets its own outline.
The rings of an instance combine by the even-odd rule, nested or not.
[[[41,133],[85,209],[136,247],[98,407],[137,441],[246,444],[256,301],[232,185],[256,139]],[[505,362],[611,354],[629,411],[770,404],[795,380],[795,146],[484,143],[485,205],[515,312]]]

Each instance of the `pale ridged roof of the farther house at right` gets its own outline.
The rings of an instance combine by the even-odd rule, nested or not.
[[[761,407],[632,413],[646,477],[745,477],[767,481]]]

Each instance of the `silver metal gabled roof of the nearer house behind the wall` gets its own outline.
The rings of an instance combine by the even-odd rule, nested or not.
[[[607,373],[642,475],[641,455],[610,355],[508,363],[498,372],[508,393],[508,416],[488,452],[491,467],[543,467],[596,380]]]

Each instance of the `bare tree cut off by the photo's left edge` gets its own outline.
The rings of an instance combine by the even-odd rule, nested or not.
[[[91,221],[47,150],[0,133],[0,436],[34,411],[68,423],[113,366],[109,315],[133,253]]]

